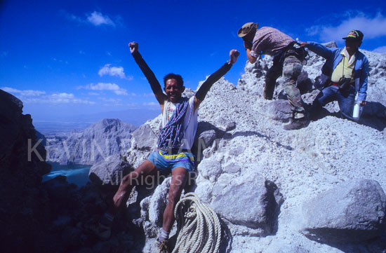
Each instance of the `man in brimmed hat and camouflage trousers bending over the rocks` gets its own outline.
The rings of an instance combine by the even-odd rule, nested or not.
[[[302,97],[297,87],[298,76],[302,71],[302,61],[305,50],[290,36],[272,27],[261,27],[248,22],[244,24],[237,35],[244,40],[246,56],[249,62],[255,63],[260,55],[271,55],[274,64],[265,75],[263,97],[272,100],[277,78],[283,74],[284,90],[291,104],[291,123],[284,125],[285,130],[304,128],[310,123],[302,106]]]

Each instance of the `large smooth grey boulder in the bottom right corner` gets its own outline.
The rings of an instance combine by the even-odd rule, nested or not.
[[[361,242],[380,235],[386,196],[375,180],[344,182],[303,205],[303,233],[323,242]]]

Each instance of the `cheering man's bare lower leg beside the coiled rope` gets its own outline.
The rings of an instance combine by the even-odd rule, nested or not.
[[[174,208],[177,205],[178,200],[182,193],[182,189],[187,182],[188,172],[185,167],[176,167],[173,172],[171,172],[171,186],[169,188],[169,198],[168,205],[166,205],[164,211],[164,223],[162,228],[164,231],[171,231],[171,227],[174,223]]]

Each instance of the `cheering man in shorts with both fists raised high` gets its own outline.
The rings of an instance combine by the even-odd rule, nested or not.
[[[102,238],[109,238],[114,214],[126,204],[133,186],[137,185],[138,182],[146,182],[146,180],[143,180],[144,177],[157,175],[157,171],[163,174],[171,173],[168,205],[164,211],[161,232],[156,240],[157,250],[159,252],[168,252],[168,235],[175,220],[173,213],[175,205],[180,200],[189,172],[194,171],[194,155],[190,149],[197,130],[197,109],[213,83],[225,75],[231,69],[232,64],[237,62],[239,52],[234,49],[230,50],[229,61],[204,81],[196,95],[187,99],[181,97],[185,87],[180,75],[168,74],[164,77],[165,95],[154,73],[138,52],[138,43],[131,42],[128,45],[135,62],[145,74],[161,106],[163,128],[159,135],[157,151],[150,154],[145,162],[122,179],[121,185],[113,198],[114,205],[100,220],[98,234]]]

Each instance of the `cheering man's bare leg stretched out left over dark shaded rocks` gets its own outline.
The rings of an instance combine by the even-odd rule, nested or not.
[[[157,173],[157,167],[150,162],[145,160],[141,163],[133,172],[126,175],[121,180],[121,185],[117,193],[115,193],[113,198],[113,205],[110,207],[109,212],[111,214],[117,214],[119,208],[121,208],[128,200],[131,190],[134,186],[142,184],[145,182],[145,177],[149,175],[155,175]]]

